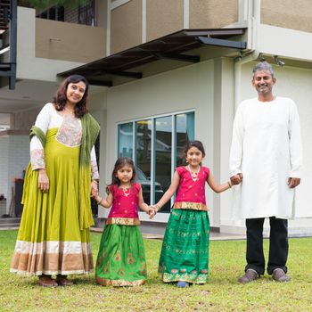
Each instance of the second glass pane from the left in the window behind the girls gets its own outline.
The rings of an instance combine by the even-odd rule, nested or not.
[[[142,179],[136,180],[142,185],[144,201],[150,205],[152,119],[135,122],[135,128],[135,165],[138,175],[142,173]]]

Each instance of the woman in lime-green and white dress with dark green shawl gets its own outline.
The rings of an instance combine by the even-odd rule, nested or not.
[[[66,78],[31,128],[11,272],[38,275],[45,287],[70,285],[67,275],[94,267],[90,192],[97,192],[94,143],[100,127],[86,109],[87,95],[86,78]]]

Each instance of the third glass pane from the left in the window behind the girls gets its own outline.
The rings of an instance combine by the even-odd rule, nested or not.
[[[155,120],[155,202],[159,201],[171,184],[172,117]],[[170,211],[170,201],[161,209]]]

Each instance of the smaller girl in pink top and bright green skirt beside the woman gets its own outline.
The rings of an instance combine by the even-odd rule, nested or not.
[[[144,203],[141,185],[134,180],[133,160],[121,157],[112,171],[106,199],[94,193],[98,204],[111,207],[95,268],[96,283],[101,285],[135,286],[146,281],[144,242],[138,228],[137,206],[151,218],[155,211]]]

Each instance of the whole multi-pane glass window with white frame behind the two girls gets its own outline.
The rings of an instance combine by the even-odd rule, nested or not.
[[[185,144],[193,139],[193,111],[119,125],[118,155],[135,160],[136,181],[148,205],[168,190],[175,168],[185,165]],[[171,203],[160,212],[170,212]]]

